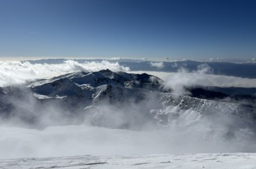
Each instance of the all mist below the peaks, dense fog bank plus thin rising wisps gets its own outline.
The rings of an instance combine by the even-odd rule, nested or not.
[[[252,122],[244,126],[228,106],[202,114],[166,105],[154,92],[137,94],[140,101],[100,99],[84,109],[22,97],[18,113],[29,111],[1,122],[0,158],[256,151]]]

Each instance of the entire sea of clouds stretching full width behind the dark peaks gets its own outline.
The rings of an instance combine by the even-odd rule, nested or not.
[[[77,61],[64,61],[62,64],[31,64],[26,61],[0,61],[0,87],[8,85],[19,85],[38,78],[51,78],[54,76],[71,73],[75,71],[99,71],[109,69],[111,71],[127,71],[128,73],[148,73],[162,78],[166,86],[175,89],[174,92],[184,92],[184,87],[193,85],[210,85],[218,87],[255,87],[256,79],[241,78],[225,75],[214,75],[207,64],[198,66],[196,71],[188,71],[179,68],[177,73],[166,73],[157,71],[163,67],[163,62],[151,62],[156,71],[130,71],[127,66],[118,62],[92,61],[79,63]]]

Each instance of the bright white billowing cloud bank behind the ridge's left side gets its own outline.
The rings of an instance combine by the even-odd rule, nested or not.
[[[23,84],[27,80],[49,78],[74,71],[129,71],[129,67],[120,66],[118,62],[79,62],[68,60],[63,64],[31,64],[30,62],[8,61],[0,62],[0,86]]]

